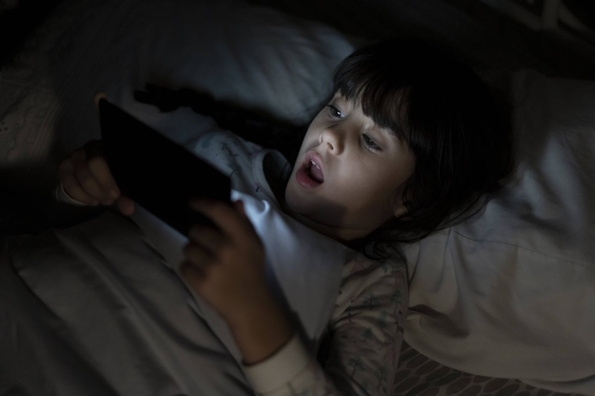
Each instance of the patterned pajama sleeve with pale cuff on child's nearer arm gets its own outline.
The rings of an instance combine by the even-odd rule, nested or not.
[[[403,340],[403,265],[359,256],[347,263],[322,343],[321,363],[293,338],[265,362],[244,367],[259,395],[392,395]]]

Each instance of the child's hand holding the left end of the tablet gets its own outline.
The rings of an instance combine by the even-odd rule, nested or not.
[[[117,202],[124,215],[134,212],[134,201],[121,195],[101,151],[101,140],[91,140],[58,165],[58,177],[68,196],[87,205]]]

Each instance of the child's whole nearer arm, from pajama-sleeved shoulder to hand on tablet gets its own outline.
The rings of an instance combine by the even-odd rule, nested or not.
[[[403,268],[369,261],[346,266],[330,325],[330,353],[321,365],[292,337],[267,290],[264,252],[242,206],[193,207],[218,230],[190,230],[182,274],[230,325],[243,369],[259,394],[374,395],[392,389],[406,307]]]

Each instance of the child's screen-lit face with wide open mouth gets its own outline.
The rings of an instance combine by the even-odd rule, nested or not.
[[[403,213],[394,192],[414,166],[406,144],[375,125],[359,104],[335,95],[306,132],[285,190],[286,205],[330,237],[365,237]]]

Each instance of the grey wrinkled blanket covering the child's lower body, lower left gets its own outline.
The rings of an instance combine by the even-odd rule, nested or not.
[[[251,394],[164,261],[109,210],[2,241],[0,393]]]

